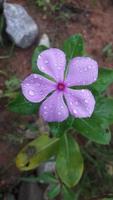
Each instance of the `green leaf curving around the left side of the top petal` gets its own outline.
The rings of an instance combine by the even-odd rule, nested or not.
[[[47,49],[47,47],[45,47],[45,46],[36,47],[36,49],[33,53],[33,56],[32,56],[32,72],[33,73],[42,74],[41,71],[37,67],[37,58],[38,58],[39,54],[46,49]]]

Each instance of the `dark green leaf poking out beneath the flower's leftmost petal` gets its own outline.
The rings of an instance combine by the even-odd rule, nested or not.
[[[23,115],[34,114],[38,112],[39,104],[27,101],[23,95],[18,94],[16,99],[8,104],[8,108],[12,112]]]

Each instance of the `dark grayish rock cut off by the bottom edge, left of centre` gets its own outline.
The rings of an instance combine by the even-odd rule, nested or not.
[[[22,183],[18,200],[43,200],[43,192],[37,183]]]

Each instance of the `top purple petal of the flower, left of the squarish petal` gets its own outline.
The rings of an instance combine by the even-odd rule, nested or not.
[[[56,81],[63,81],[66,58],[63,51],[50,48],[43,51],[37,60],[40,71],[53,77]]]

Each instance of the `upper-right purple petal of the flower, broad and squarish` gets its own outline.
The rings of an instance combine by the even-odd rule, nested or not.
[[[68,86],[89,85],[97,80],[98,64],[89,57],[76,57],[69,63]]]

